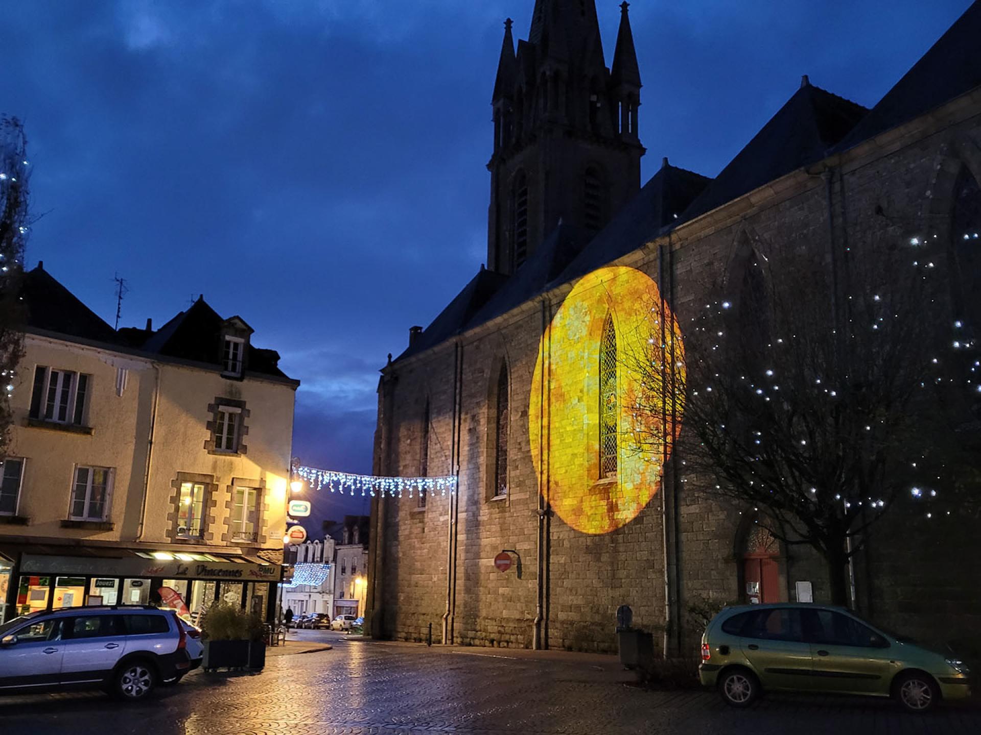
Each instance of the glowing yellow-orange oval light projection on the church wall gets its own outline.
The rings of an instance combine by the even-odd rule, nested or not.
[[[555,313],[539,343],[528,427],[545,498],[573,528],[609,533],[660,489],[685,375],[661,381],[654,369],[683,370],[683,351],[657,284],[640,270],[594,270]]]

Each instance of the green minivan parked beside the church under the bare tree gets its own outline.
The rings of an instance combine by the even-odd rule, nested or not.
[[[962,662],[813,604],[725,608],[701,636],[698,677],[733,707],[770,690],[893,697],[912,712],[970,695]]]

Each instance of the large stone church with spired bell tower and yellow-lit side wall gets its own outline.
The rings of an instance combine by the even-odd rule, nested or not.
[[[756,258],[792,244],[833,254],[872,230],[929,233],[963,283],[975,277],[961,239],[981,229],[981,6],[872,109],[804,77],[718,176],[664,159],[637,192],[627,9],[607,72],[594,3],[573,5],[537,2],[517,57],[508,24],[488,269],[383,369],[375,473],[455,474],[459,492],[374,501],[379,637],[423,640],[432,624],[444,642],[610,651],[630,605],[665,651],[692,653],[706,606],[828,600],[823,564],[768,537],[754,509],[699,493],[683,457],[639,468],[618,446],[626,394],[611,356],[636,297],[659,294],[684,331],[709,284],[743,282]],[[548,165],[552,136],[575,149],[562,154],[572,169]],[[609,155],[598,187],[596,147]],[[594,228],[597,206],[610,214]],[[901,507],[870,532],[854,605],[925,638],[976,639],[978,541],[931,523]]]

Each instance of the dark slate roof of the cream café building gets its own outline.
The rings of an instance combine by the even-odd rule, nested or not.
[[[215,368],[222,366],[221,333],[226,319],[208,306],[204,297],[157,331],[134,327],[117,331],[44,270],[43,264],[25,273],[23,294],[27,325],[34,329],[163,358],[204,363]],[[245,373],[286,377],[278,367],[279,360],[275,350],[249,345]]]

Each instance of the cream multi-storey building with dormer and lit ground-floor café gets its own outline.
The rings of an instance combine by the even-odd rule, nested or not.
[[[3,615],[216,600],[275,612],[297,381],[203,300],[115,330],[26,273],[3,462]]]

